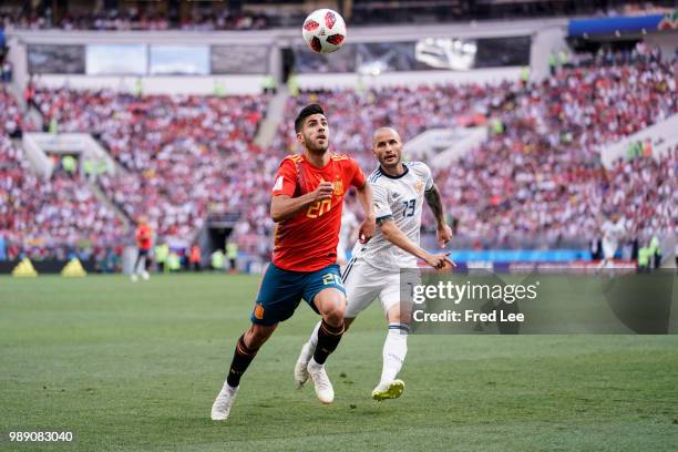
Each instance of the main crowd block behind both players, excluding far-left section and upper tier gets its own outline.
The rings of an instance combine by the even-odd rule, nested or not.
[[[298,151],[291,123],[300,106],[322,103],[333,150],[356,156],[366,172],[376,166],[369,147],[378,126],[392,125],[407,141],[427,129],[487,124],[486,142],[433,168],[459,224],[455,245],[567,247],[597,236],[613,212],[639,236],[676,232],[676,151],[658,163],[640,156],[609,168],[598,156],[678,113],[676,70],[639,59],[563,69],[541,83],[302,93],[288,101],[268,150],[253,143],[266,95],[38,90],[34,102],[60,131],[92,132],[110,150],[123,171],[99,182],[130,218],[146,214],[160,236],[192,240],[208,213],[239,210],[239,244],[260,255],[270,250],[261,236],[273,230],[273,175],[287,152]]]

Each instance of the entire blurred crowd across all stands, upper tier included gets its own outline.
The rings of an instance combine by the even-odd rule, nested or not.
[[[600,10],[595,3],[590,11],[577,3],[584,9],[546,13],[507,8],[492,14],[629,12],[626,7]],[[362,7],[356,8],[358,14]],[[634,8],[638,12],[654,7]],[[403,9],[393,13],[402,14]],[[464,10],[454,18],[466,13],[484,18]],[[373,14],[370,23],[379,23],[388,11]],[[0,8],[4,29],[242,30],[288,19],[237,9],[173,12],[152,6],[61,14],[59,20],[53,16],[49,8]],[[501,83],[312,91],[290,86],[292,95],[277,133],[270,145],[261,146],[256,136],[274,97],[269,86],[263,94],[249,95],[161,95],[48,88],[37,79],[23,93],[27,107],[22,109],[6,89],[12,69],[3,62],[0,259],[78,255],[111,260],[120,256],[123,244],[133,242],[131,225],[141,216],[148,218],[158,243],[179,244],[187,259],[209,215],[234,212],[238,219],[230,242],[265,259],[273,242],[268,215],[273,177],[285,155],[300,151],[292,122],[298,110],[311,102],[328,113],[332,151],[356,157],[366,173],[376,167],[370,137],[377,127],[393,126],[404,142],[431,129],[487,127],[487,138],[460,160],[433,167],[450,223],[455,225],[453,246],[586,247],[613,213],[625,218],[629,240],[675,234],[678,147],[657,160],[650,141],[634,143],[625,158],[607,167],[600,152],[678,113],[678,60],[638,42],[554,53],[549,64],[551,75],[541,81],[526,74]],[[37,124],[54,134],[92,134],[113,157],[116,171],[83,172],[84,162],[68,155],[53,156],[55,171],[48,178],[35,175],[18,138],[39,129]],[[349,197],[348,208],[353,204]],[[427,212],[424,228],[431,225]]]

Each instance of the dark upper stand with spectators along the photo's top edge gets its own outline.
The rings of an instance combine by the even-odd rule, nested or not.
[[[266,0],[237,2],[238,7],[195,4],[177,11],[174,7],[162,8],[156,2],[138,2],[119,9],[97,9],[95,12],[75,8],[59,10],[47,8],[39,11],[28,6],[0,8],[0,24],[17,29],[62,30],[261,30],[274,27],[294,27],[300,23],[308,4],[300,1]],[[157,2],[160,3],[160,2]],[[209,3],[209,2],[204,2]],[[268,2],[271,3],[271,2]],[[284,3],[287,3],[282,8]],[[546,0],[479,1],[436,0],[422,2],[398,2],[389,4],[380,0],[348,2],[340,12],[355,25],[384,25],[394,23],[443,23],[469,20],[506,20],[545,18],[556,16],[595,14],[615,17],[664,11],[674,7],[670,0],[625,4],[615,0],[553,2]]]

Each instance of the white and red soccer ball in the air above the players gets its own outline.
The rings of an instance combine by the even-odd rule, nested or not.
[[[346,40],[346,23],[337,11],[319,9],[304,21],[301,34],[308,47],[317,53],[332,53]]]

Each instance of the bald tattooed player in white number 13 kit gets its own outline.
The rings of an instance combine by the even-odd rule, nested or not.
[[[423,163],[401,161],[402,141],[393,129],[382,127],[372,136],[372,153],[379,161],[369,177],[374,199],[374,213],[380,226],[367,244],[357,244],[353,257],[342,274],[347,291],[345,325],[348,328],[356,316],[379,298],[388,320],[388,335],[383,345],[383,366],[372,399],[400,397],[404,382],[397,379],[408,351],[409,315],[401,312],[400,270],[417,268],[417,258],[434,268],[453,266],[444,254],[429,254],[419,246],[421,213],[425,201],[438,222],[441,247],[452,238],[444,219],[440,192]],[[308,379],[306,364],[316,349],[318,325],[295,366],[295,380],[301,387]]]

